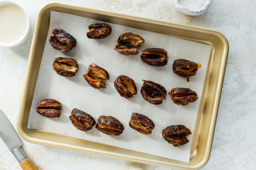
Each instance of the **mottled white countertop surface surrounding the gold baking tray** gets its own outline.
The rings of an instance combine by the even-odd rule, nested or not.
[[[50,0],[14,0],[29,14],[32,25],[37,12]],[[172,0],[58,0],[131,15],[203,26],[222,32],[229,41],[229,58],[219,114],[208,164],[204,170],[255,169],[256,165],[256,0],[213,0],[199,16],[178,12]],[[16,129],[27,60],[32,40],[13,48],[0,47],[0,108]],[[31,144],[22,148],[39,170],[125,170],[140,165],[146,170],[170,170],[99,155]],[[20,170],[0,139],[0,170]]]

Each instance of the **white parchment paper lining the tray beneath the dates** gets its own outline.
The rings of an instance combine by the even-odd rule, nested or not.
[[[107,22],[105,23],[112,27],[111,35],[101,40],[93,40],[86,36],[86,32],[89,31],[88,26],[93,23],[102,23],[102,21],[52,11],[28,128],[189,162],[191,140],[211,46]],[[70,52],[54,50],[48,39],[55,28],[63,29],[74,36],[77,46]],[[125,32],[139,34],[144,38],[145,42],[139,48],[138,55],[124,56],[113,50],[117,45],[118,37]],[[141,52],[149,47],[164,48],[168,52],[168,64],[164,67],[153,67],[142,62]],[[79,65],[76,76],[62,77],[54,72],[52,65],[56,57],[75,58]],[[202,64],[197,75],[190,78],[190,82],[184,77],[178,77],[172,71],[173,61],[178,58],[188,58]],[[94,89],[85,81],[83,74],[87,72],[91,63],[103,67],[109,73],[107,88]],[[122,98],[117,93],[114,80],[119,75],[126,75],[135,81],[138,94],[133,98]],[[179,106],[174,104],[167,94],[166,100],[160,105],[148,103],[140,94],[143,79],[163,85],[167,93],[176,87],[190,88],[197,92],[198,100],[187,106]],[[56,99],[62,104],[60,118],[46,118],[36,112],[38,101],[45,98]],[[101,115],[117,118],[124,125],[123,134],[109,136],[99,132],[95,127],[88,132],[77,130],[69,120],[73,108],[91,114],[96,121]],[[139,134],[128,126],[134,112],[148,116],[155,123],[152,134]],[[189,143],[173,147],[163,139],[161,133],[167,126],[177,124],[187,126],[192,135],[188,136]]]

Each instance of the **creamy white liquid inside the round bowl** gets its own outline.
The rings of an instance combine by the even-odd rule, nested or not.
[[[28,21],[25,12],[13,4],[0,5],[0,44],[11,46],[24,38]]]

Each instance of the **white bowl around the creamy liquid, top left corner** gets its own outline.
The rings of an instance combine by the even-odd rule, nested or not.
[[[21,45],[23,42],[25,42],[27,40],[27,37],[30,35],[31,32],[31,24],[27,15],[26,10],[18,3],[13,2],[11,0],[4,0],[4,1],[0,1],[0,6],[1,5],[6,5],[6,4],[11,4],[11,5],[16,5],[17,7],[21,8],[21,10],[24,11],[24,13],[27,16],[27,28],[26,31],[24,32],[23,36],[19,39],[17,39],[16,41],[14,41],[13,43],[4,43],[0,41],[0,46],[5,46],[5,47],[14,47],[14,46],[19,46]],[[18,29],[18,28],[17,28]]]

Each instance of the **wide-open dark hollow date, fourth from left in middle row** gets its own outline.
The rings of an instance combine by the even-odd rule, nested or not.
[[[167,94],[165,88],[152,81],[143,81],[143,86],[140,89],[140,93],[143,98],[152,104],[162,104]]]

